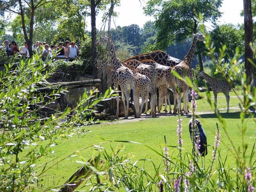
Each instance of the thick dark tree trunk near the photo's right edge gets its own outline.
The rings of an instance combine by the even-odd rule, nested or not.
[[[245,32],[245,52],[244,52],[244,60],[245,60],[245,74],[246,74],[246,84],[250,84],[252,82],[252,64],[248,59],[253,59],[253,52],[250,47],[250,43],[252,43],[252,4],[251,0],[244,0],[244,32]]]

